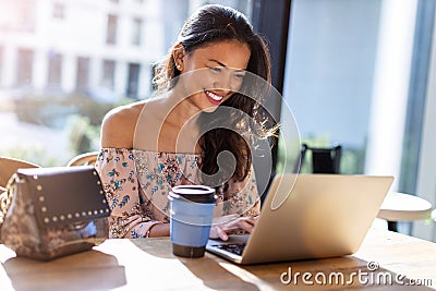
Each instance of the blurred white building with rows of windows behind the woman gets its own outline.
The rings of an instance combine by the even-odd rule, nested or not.
[[[171,2],[182,13],[162,22],[168,1],[2,0],[0,85],[144,97],[153,63],[169,46],[159,36],[173,36],[186,14]]]

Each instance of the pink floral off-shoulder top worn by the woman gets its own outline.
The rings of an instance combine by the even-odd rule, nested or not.
[[[156,223],[169,222],[171,187],[198,183],[198,155],[102,148],[96,169],[111,208],[109,238],[144,238]],[[214,216],[258,215],[254,171],[217,191]]]

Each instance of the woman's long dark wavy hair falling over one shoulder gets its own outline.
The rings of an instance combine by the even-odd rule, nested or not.
[[[246,44],[251,50],[246,71],[270,84],[270,57],[266,40],[253,32],[253,27],[244,14],[232,8],[219,4],[201,7],[184,23],[179,34],[178,44],[189,54],[197,48],[226,40],[238,40]],[[155,75],[154,84],[157,89],[170,89],[174,86],[173,82],[180,75],[180,71],[175,68],[172,50],[168,53],[166,60],[156,68]],[[235,114],[223,117],[214,112],[202,112],[198,119],[201,129],[202,126],[213,129],[205,132],[198,141],[202,157],[199,167],[206,175],[217,173],[219,170],[217,157],[219,153],[228,150],[237,160],[232,177],[242,181],[247,177],[252,165],[252,153],[247,143],[254,143],[257,137],[265,138],[272,135],[275,129],[274,126],[272,130],[265,126],[266,117],[262,112],[262,106],[257,98],[234,93],[221,106],[237,109],[231,110]],[[241,120],[237,114],[238,111],[247,114],[258,125],[254,128],[261,130],[253,130],[253,124],[249,124],[252,122]],[[240,134],[229,130],[234,126],[243,128],[243,131],[249,133],[249,140],[244,140]]]

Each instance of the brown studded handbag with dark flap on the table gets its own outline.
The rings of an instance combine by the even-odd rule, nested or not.
[[[110,209],[94,167],[19,169],[0,203],[0,242],[17,256],[50,260],[108,238]]]

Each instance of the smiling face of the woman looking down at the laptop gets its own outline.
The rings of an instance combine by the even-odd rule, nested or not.
[[[183,53],[181,83],[191,104],[213,111],[238,92],[243,83],[251,51],[238,40],[219,41]]]

